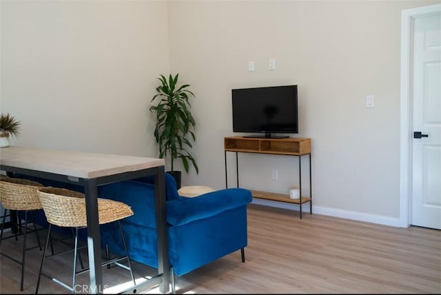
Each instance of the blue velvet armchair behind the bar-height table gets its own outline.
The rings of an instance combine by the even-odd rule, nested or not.
[[[247,204],[249,190],[229,188],[194,198],[179,196],[176,181],[165,174],[167,195],[167,234],[172,274],[181,276],[218,258],[247,246]],[[145,177],[102,185],[99,196],[130,205],[134,215],[125,218],[123,230],[130,257],[157,267],[154,179]],[[121,238],[114,225],[101,230],[101,241],[111,252],[121,253]],[[174,289],[174,286],[172,286]]]

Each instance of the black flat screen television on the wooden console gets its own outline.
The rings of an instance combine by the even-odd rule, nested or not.
[[[233,89],[232,105],[233,132],[258,133],[245,136],[252,138],[298,133],[297,85]]]

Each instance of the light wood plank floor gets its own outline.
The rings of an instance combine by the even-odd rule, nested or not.
[[[250,204],[245,263],[240,262],[240,251],[225,256],[177,277],[176,293],[441,293],[441,231],[318,214],[302,217],[298,212]],[[20,242],[3,241],[1,251],[20,257]],[[1,293],[34,293],[41,252],[28,253],[23,292],[19,291],[19,265],[0,256]],[[68,274],[67,281],[68,269],[70,259],[60,257],[50,264],[52,272]],[[137,278],[156,274],[138,263],[134,269]],[[125,281],[130,281],[125,269],[103,269],[105,285]],[[87,284],[88,274],[79,276],[78,283]],[[40,293],[69,292],[43,277]]]

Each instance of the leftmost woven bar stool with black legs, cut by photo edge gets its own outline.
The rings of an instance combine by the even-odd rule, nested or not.
[[[15,241],[18,241],[18,236],[23,234],[23,250],[21,252],[21,261],[16,258],[1,252],[3,256],[10,258],[12,261],[19,263],[21,265],[21,281],[20,281],[20,291],[23,291],[23,281],[25,276],[25,257],[26,250],[30,250],[35,247],[41,248],[41,243],[38,235],[37,226],[32,218],[32,212],[35,210],[41,210],[41,204],[37,194],[37,190],[43,187],[41,183],[36,181],[30,181],[28,179],[16,179],[8,176],[0,177],[0,201],[5,208],[2,216],[1,231],[0,231],[0,245],[1,241],[6,238],[15,237]],[[9,214],[8,214],[9,212]],[[3,238],[3,230],[6,224],[6,217],[10,217],[11,228],[15,225],[14,221],[17,220],[20,212],[24,212],[25,223],[21,224],[21,218],[19,218],[19,224],[17,230],[14,231],[14,235],[7,236]],[[28,215],[30,216],[34,229],[28,228]],[[22,233],[22,227],[24,228],[24,233]],[[26,241],[28,239],[28,232],[35,232],[37,236],[37,246],[26,247]]]

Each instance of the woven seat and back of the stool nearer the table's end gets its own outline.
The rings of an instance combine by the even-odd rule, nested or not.
[[[39,199],[49,223],[61,227],[85,227],[85,197],[59,187],[43,187],[38,190]],[[133,215],[125,203],[98,198],[99,224],[110,223]]]

